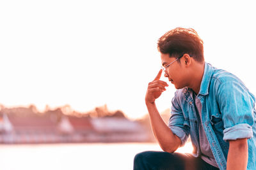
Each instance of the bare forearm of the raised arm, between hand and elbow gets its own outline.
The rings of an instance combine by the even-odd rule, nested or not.
[[[155,103],[146,103],[154,136],[164,152],[175,152],[181,141],[164,123]]]

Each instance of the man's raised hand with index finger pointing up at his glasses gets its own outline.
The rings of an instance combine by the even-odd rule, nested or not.
[[[160,80],[162,72],[163,69],[159,71],[153,81],[148,83],[147,94],[145,97],[146,103],[154,103],[154,101],[161,96],[162,92],[166,90],[165,87],[168,87],[168,84],[165,81]]]

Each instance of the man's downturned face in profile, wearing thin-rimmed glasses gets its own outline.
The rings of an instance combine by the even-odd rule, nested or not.
[[[186,74],[184,74],[184,67],[182,62],[179,62],[175,57],[170,57],[168,53],[161,53],[162,66],[166,67],[168,64],[170,66],[166,67],[164,76],[168,78],[176,89],[182,89],[186,87]],[[182,60],[182,57],[180,58]]]

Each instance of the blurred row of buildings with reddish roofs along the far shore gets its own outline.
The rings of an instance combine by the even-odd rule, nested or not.
[[[0,111],[0,143],[145,142],[146,131],[121,111],[100,118],[64,115],[60,108],[39,113],[34,106]]]

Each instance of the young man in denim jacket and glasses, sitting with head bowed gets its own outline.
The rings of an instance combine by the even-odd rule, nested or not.
[[[158,41],[163,70],[148,83],[145,103],[152,131],[164,152],[142,152],[134,169],[256,169],[255,97],[234,74],[204,61],[202,39],[176,28]],[[168,84],[177,91],[164,124],[155,101]],[[191,137],[191,154],[174,153]]]

